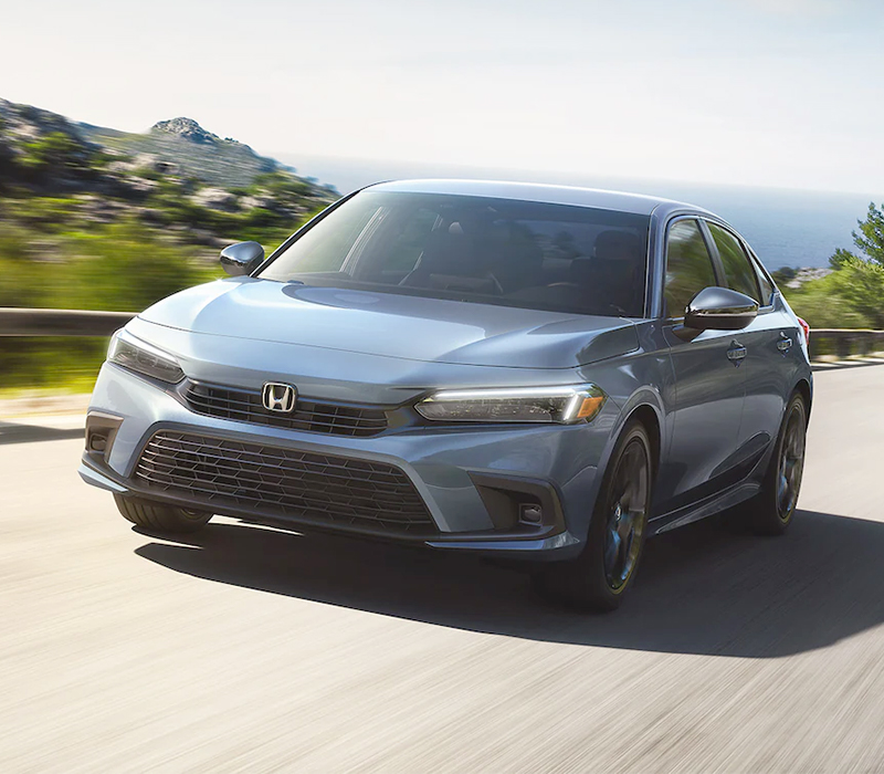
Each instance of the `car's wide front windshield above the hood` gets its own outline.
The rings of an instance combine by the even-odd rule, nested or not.
[[[642,316],[649,217],[434,194],[357,194],[260,276],[580,314]]]

